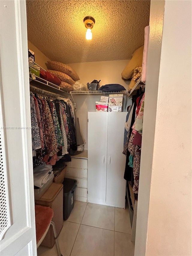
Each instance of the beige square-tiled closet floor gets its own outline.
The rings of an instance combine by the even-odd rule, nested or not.
[[[75,201],[58,237],[63,256],[132,256],[131,224],[126,209]],[[57,256],[40,246],[38,256]]]

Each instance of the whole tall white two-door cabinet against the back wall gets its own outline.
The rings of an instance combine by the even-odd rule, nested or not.
[[[124,208],[126,112],[88,112],[88,202]]]

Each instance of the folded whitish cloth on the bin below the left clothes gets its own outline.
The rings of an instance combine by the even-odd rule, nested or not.
[[[33,169],[33,180],[36,187],[41,188],[50,179],[53,179],[52,165],[38,165]]]

